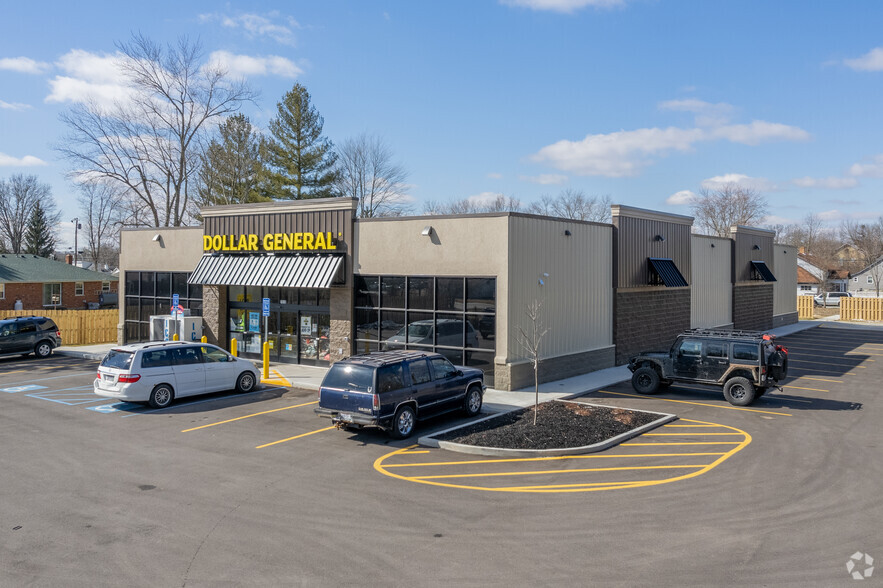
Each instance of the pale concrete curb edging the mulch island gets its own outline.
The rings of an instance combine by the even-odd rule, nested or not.
[[[552,402],[573,402],[575,404],[582,404],[584,406],[597,406],[599,408],[621,408],[618,406],[607,406],[602,404],[591,404],[589,402],[576,402],[574,400],[561,400],[555,399]],[[520,408],[515,410],[522,410]],[[464,445],[462,443],[453,443],[451,441],[439,441],[435,439],[434,435],[441,435],[444,433],[448,433],[449,431],[456,431],[457,429],[462,429],[476,423],[480,423],[483,421],[487,421],[493,418],[497,418],[504,414],[508,414],[513,411],[506,411],[503,413],[498,413],[491,415],[489,417],[480,419],[475,421],[474,423],[469,423],[468,425],[461,425],[459,427],[452,427],[450,429],[446,429],[444,431],[438,431],[431,436],[420,437],[417,439],[417,443],[424,447],[438,447],[440,449],[447,449],[448,451],[456,451],[458,453],[469,453],[472,455],[487,455],[492,457],[550,457],[557,455],[582,455],[585,453],[597,453],[599,451],[604,451],[605,449],[609,449],[615,445],[619,445],[623,441],[631,439],[632,437],[636,437],[641,435],[642,433],[646,433],[651,429],[655,429],[656,427],[662,426],[665,423],[671,422],[675,420],[677,415],[668,414],[664,412],[655,412],[650,410],[635,410],[631,408],[622,408],[622,410],[628,410],[631,412],[643,412],[647,414],[658,414],[660,418],[656,419],[653,422],[647,423],[646,425],[642,425],[636,429],[632,429],[630,431],[626,431],[625,433],[620,433],[615,437],[611,437],[610,439],[605,439],[604,441],[600,441],[598,443],[593,443],[592,445],[584,445],[583,447],[566,447],[566,448],[558,448],[558,449],[505,449],[501,447],[482,447],[479,445]]]

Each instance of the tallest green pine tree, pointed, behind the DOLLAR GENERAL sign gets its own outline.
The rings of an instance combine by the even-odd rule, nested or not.
[[[289,200],[334,196],[337,156],[331,141],[322,136],[325,120],[310,104],[310,93],[295,84],[277,109],[270,121],[272,196]]]

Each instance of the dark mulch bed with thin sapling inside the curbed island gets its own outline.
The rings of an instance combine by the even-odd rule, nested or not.
[[[537,411],[523,408],[436,435],[439,441],[502,449],[584,447],[615,437],[660,418],[658,414],[623,408],[586,406],[575,402],[544,402]]]

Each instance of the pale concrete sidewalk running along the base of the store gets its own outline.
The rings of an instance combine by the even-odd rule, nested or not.
[[[822,321],[800,321],[793,325],[771,329],[768,332],[777,337],[784,337],[791,333],[812,329],[821,324],[823,324]],[[850,324],[849,326],[854,325]],[[54,353],[100,360],[112,347],[116,347],[116,345],[108,343],[105,345],[81,345],[76,347],[61,346],[56,349]],[[260,369],[259,361],[255,361],[255,365]],[[263,383],[265,386],[285,386],[304,388],[307,390],[318,390],[319,384],[321,384],[322,378],[325,376],[327,370],[328,368],[309,365],[271,363],[270,378],[264,380]],[[572,378],[566,378],[564,380],[546,382],[545,384],[540,384],[540,402],[546,402],[556,398],[579,396],[606,386],[612,386],[619,382],[628,381],[631,377],[632,374],[628,368],[621,365],[590,372],[588,374],[582,374],[580,376],[574,376]],[[533,403],[533,386],[512,391],[488,388],[484,395],[484,406],[487,412],[521,408],[524,406],[531,406]]]

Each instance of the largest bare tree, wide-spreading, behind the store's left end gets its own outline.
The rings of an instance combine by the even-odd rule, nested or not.
[[[204,63],[201,46],[181,38],[163,47],[135,35],[118,44],[131,96],[105,109],[92,102],[61,115],[69,133],[56,147],[82,181],[118,183],[148,226],[185,224],[197,144],[216,118],[253,100],[244,81]]]

